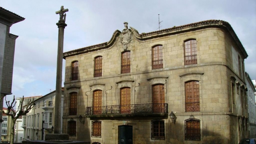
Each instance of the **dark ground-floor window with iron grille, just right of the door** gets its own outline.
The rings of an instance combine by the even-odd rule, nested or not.
[[[151,121],[151,139],[164,140],[164,120],[152,120]]]

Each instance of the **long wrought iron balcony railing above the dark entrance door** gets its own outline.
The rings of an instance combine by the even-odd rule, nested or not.
[[[86,107],[86,117],[168,116],[167,103]]]

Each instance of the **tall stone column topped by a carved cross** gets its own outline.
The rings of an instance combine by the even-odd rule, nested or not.
[[[61,125],[61,88],[62,88],[62,60],[63,60],[63,41],[64,41],[64,29],[67,26],[65,23],[66,13],[68,9],[60,7],[60,11],[56,14],[60,14],[60,20],[56,25],[59,28],[58,35],[58,55],[57,55],[57,74],[56,74],[56,96],[55,96],[55,114],[54,114],[54,133],[60,133]],[[65,14],[64,14],[65,13]]]

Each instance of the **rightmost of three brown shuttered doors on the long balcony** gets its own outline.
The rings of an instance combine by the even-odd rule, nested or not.
[[[155,84],[152,86],[153,112],[164,113],[164,84]]]

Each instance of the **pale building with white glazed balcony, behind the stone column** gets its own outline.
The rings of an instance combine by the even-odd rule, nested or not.
[[[63,89],[61,97],[61,109],[63,109]],[[44,140],[45,134],[53,133],[54,128],[54,108],[55,108],[55,91],[52,91],[36,100],[35,105],[23,122],[26,128],[24,129],[24,137],[30,140]],[[62,110],[61,110],[62,116]],[[62,122],[61,122],[62,123]],[[61,125],[62,131],[62,125]]]

